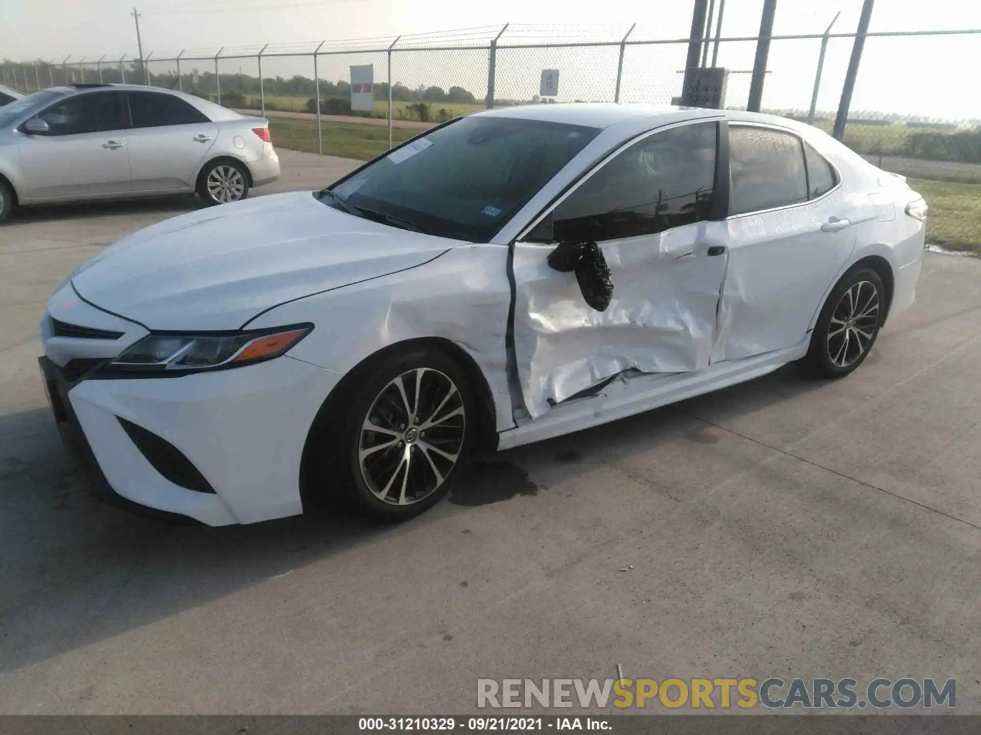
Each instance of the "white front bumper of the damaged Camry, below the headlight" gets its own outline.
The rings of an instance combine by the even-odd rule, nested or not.
[[[283,357],[173,378],[105,379],[39,362],[59,429],[103,500],[208,525],[302,513],[303,447],[338,373]],[[177,448],[214,492],[167,479],[120,419]]]

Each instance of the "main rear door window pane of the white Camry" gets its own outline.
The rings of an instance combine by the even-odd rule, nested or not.
[[[730,215],[807,201],[807,174],[797,135],[745,125],[729,126],[732,173]]]

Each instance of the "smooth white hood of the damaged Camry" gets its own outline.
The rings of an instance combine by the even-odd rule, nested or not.
[[[72,285],[149,329],[238,329],[286,301],[415,268],[456,244],[294,192],[142,229],[85,263]]]

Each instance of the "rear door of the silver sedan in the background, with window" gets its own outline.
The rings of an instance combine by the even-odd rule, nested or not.
[[[135,192],[187,191],[218,137],[218,124],[180,97],[129,92],[129,170]]]

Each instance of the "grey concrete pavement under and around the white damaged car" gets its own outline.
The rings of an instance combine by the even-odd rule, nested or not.
[[[284,154],[298,188],[357,163]],[[79,262],[188,206],[0,228],[0,711],[461,712],[478,677],[617,664],[955,678],[981,711],[981,261],[927,254],[842,381],[783,368],[504,453],[400,526],[174,527],[85,495],[35,335]]]

